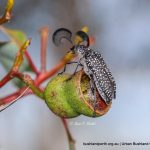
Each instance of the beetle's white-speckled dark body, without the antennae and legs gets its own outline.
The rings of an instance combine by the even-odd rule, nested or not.
[[[76,46],[74,51],[77,53],[85,73],[95,84],[106,104],[109,104],[116,97],[116,84],[101,54],[84,45]]]

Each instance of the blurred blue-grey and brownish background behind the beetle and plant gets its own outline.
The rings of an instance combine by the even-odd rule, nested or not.
[[[3,12],[6,0],[0,1]],[[150,143],[150,1],[147,0],[15,0],[7,27],[32,37],[29,48],[40,67],[40,27],[50,27],[47,69],[65,54],[51,42],[59,27],[72,32],[88,26],[117,84],[117,98],[99,118],[68,119],[77,150],[146,150],[149,146],[84,146],[83,142]],[[2,34],[1,39],[5,39]],[[6,74],[0,64],[0,78]],[[9,83],[0,97],[16,89]],[[87,125],[91,123],[91,125]],[[78,125],[77,125],[78,124]],[[80,124],[80,125],[79,125]],[[68,150],[59,117],[35,96],[22,98],[0,113],[0,150]]]

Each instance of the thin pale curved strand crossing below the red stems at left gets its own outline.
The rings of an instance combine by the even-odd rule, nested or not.
[[[12,102],[10,102],[9,104],[5,105],[5,106],[1,106],[0,107],[0,112],[4,111],[5,109],[7,109],[8,107],[10,107],[11,105],[13,105],[15,102],[17,102],[19,100],[19,98],[21,98],[29,89],[29,86],[16,98],[14,99]]]

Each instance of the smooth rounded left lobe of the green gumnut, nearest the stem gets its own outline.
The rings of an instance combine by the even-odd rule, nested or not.
[[[69,75],[63,74],[54,77],[47,85],[44,96],[48,107],[56,115],[64,118],[72,118],[80,114],[74,110],[66,99],[64,92],[65,82]]]

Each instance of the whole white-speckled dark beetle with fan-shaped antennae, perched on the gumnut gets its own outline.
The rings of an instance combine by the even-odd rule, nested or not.
[[[73,45],[70,49],[72,52],[77,54],[79,59],[75,72],[80,65],[83,66],[84,72],[89,76],[91,91],[94,95],[94,110],[97,107],[96,90],[99,92],[105,103],[109,105],[112,99],[116,98],[115,80],[101,54],[98,51],[89,48],[88,35],[83,31],[78,31],[76,35],[82,39],[82,42]],[[56,46],[62,45],[62,38],[66,38],[68,41],[73,43],[71,37],[72,33],[68,29],[60,28],[53,34],[53,43]],[[86,45],[83,45],[84,41],[86,42]]]

